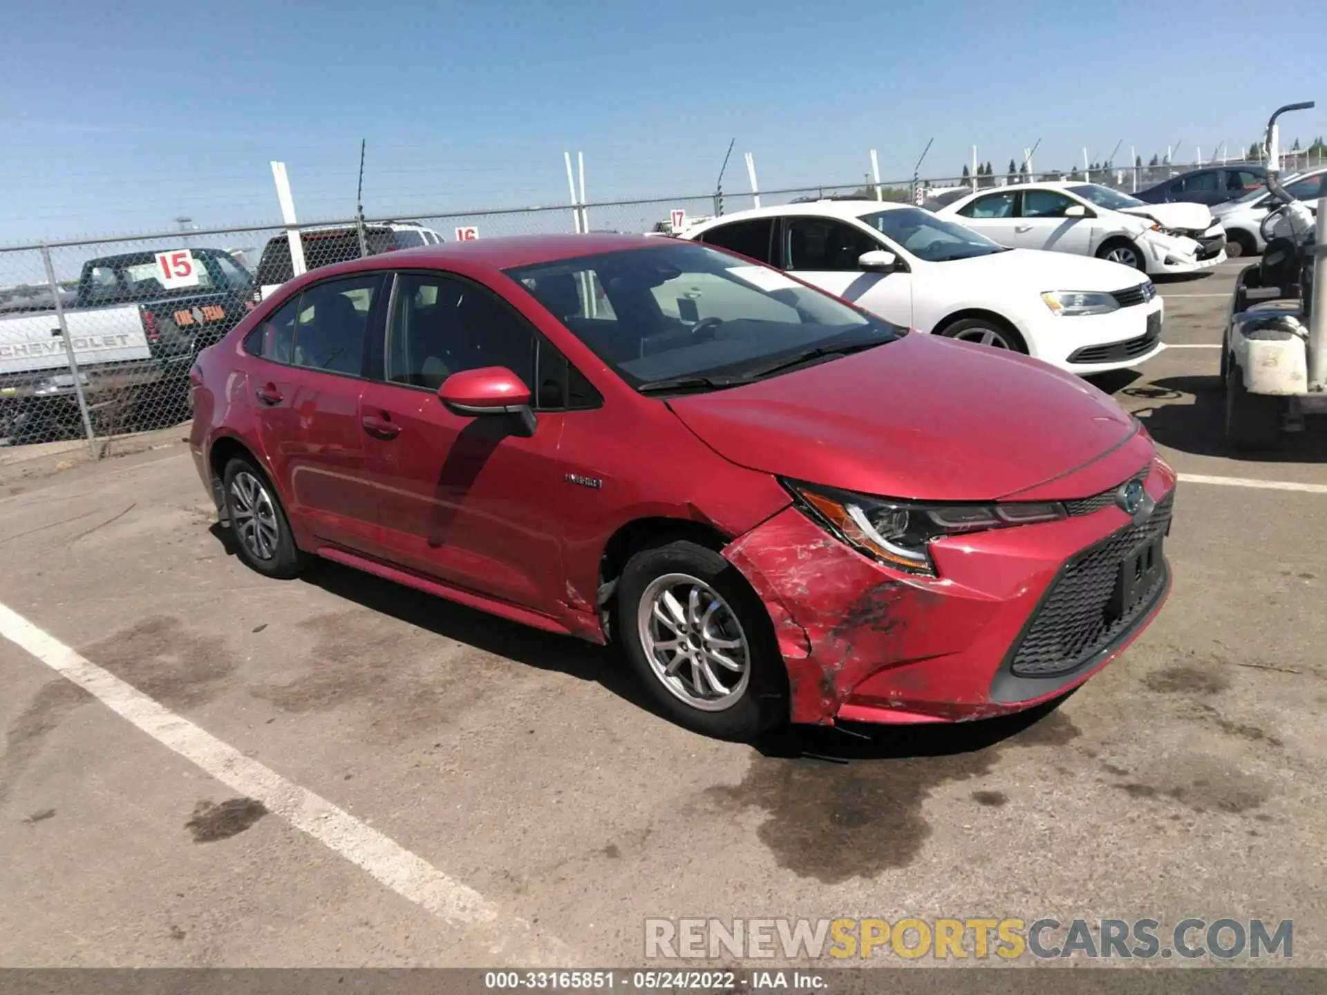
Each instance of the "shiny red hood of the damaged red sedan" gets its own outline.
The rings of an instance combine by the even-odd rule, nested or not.
[[[1137,431],[1115,401],[1072,374],[918,332],[667,403],[739,466],[916,500],[1003,498],[1063,478]],[[1062,496],[1085,496],[1072,490],[1067,480]]]

